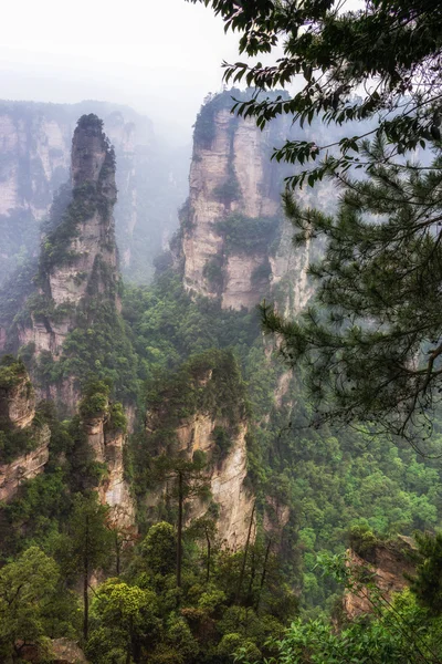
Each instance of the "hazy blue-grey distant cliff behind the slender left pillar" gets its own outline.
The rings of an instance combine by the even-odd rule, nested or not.
[[[123,269],[147,279],[178,224],[187,155],[160,145],[148,118],[101,102],[0,101],[0,284],[24,257],[38,253],[40,224],[70,177],[72,134],[85,113],[103,117],[118,160],[115,219]]]

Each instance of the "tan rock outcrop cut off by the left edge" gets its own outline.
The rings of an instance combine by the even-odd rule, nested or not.
[[[49,426],[35,422],[34,391],[20,363],[0,367],[0,437],[8,456],[13,457],[2,463],[0,455],[0,500],[8,501],[23,480],[44,470],[51,438]],[[21,452],[23,440],[29,450]]]

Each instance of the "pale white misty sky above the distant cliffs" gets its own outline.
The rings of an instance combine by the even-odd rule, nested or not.
[[[210,9],[185,0],[6,2],[0,97],[125,103],[185,142],[236,43]]]

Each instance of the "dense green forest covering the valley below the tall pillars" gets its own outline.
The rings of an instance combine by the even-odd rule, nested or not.
[[[92,662],[126,662],[128,656],[134,662],[231,662],[235,652],[261,661],[276,655],[277,640],[296,615],[318,620],[335,611],[343,580],[324,575],[317,559],[341,556],[351,528],[394,539],[440,526],[438,458],[423,458],[406,442],[373,436],[368,429],[313,430],[296,376],[290,377],[290,388],[275,406],[274,391],[286,369],[266,352],[257,310],[223,311],[217,301],[193,300],[180,276],[166,270],[151,287],[126,287],[123,319],[137,357],[139,403],[148,409],[166,397],[169,403],[155,436],[138,428],[129,438],[125,465],[138,500],[140,530],[113,530],[106,508],[91,492],[105,468],[93,460],[82,422],[101,412],[115,393],[109,376],[107,383],[85,384],[84,406],[73,419],[61,423],[49,406],[41,406],[39,417],[52,430],[50,461],[44,474],[27,481],[1,511],[2,574],[20,584],[28,568],[35,570],[29,602],[38,612],[29,614],[19,594],[17,616],[3,627],[4,653],[21,639],[43,643],[48,636],[78,636],[84,631],[83,608],[74,591],[87,558],[91,570],[99,567],[108,578],[91,598],[86,653]],[[2,383],[10,380],[11,366],[3,361]],[[212,396],[192,388],[191,376],[204,366],[219,372]],[[116,402],[113,408],[118,414]],[[177,589],[178,498],[172,490],[154,511],[146,511],[144,501],[161,481],[155,463],[158,447],[169,445],[173,456],[170,432],[196,408],[222,408],[232,425],[242,416],[252,423],[249,481],[256,495],[259,529],[248,551],[220,549],[213,505],[204,518],[183,529],[182,582]],[[124,428],[124,417],[117,415],[114,426]],[[215,435],[222,456],[232,432]],[[438,436],[433,445],[438,450]],[[193,473],[189,486],[207,459],[194,457],[193,464],[187,469],[189,478]],[[171,469],[177,473],[177,467],[173,470],[172,464]],[[262,527],[269,497],[290,508],[287,523],[272,542]],[[94,533],[92,541],[88,532]],[[294,642],[305,639],[301,624],[291,636]],[[320,634],[315,639],[322,643],[325,633]],[[357,633],[351,632],[351,639],[357,640]]]

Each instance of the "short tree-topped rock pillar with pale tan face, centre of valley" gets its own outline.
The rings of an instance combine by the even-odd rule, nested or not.
[[[203,453],[211,500],[218,506],[218,538],[232,550],[245,544],[254,504],[246,481],[248,430],[245,391],[230,352],[198,355],[149,395],[147,449],[169,459],[191,460]],[[149,505],[161,495],[150,495]],[[193,499],[188,520],[203,516],[208,507]]]

